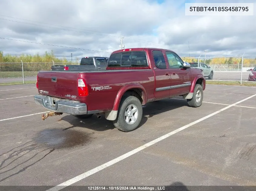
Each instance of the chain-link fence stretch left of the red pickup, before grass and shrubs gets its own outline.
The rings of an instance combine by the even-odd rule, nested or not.
[[[0,85],[35,83],[38,71],[50,71],[52,65],[79,63],[0,63]]]

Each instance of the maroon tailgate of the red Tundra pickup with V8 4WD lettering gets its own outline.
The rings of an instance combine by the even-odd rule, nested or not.
[[[78,101],[77,72],[38,72],[40,94]]]

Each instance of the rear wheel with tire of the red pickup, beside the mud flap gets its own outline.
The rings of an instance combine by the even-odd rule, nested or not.
[[[137,108],[135,113],[132,112],[133,108]],[[135,118],[131,118],[132,116]],[[141,118],[142,105],[140,100],[135,96],[124,96],[120,101],[117,117],[113,121],[113,124],[120,131],[129,132],[138,127],[141,122]],[[127,119],[129,123],[127,123],[125,119]]]

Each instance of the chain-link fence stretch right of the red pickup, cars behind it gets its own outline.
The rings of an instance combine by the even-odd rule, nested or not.
[[[190,58],[183,61],[190,63],[191,67],[202,69],[207,81],[256,85],[256,56]]]

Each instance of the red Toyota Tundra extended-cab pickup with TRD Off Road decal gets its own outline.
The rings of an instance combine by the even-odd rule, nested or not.
[[[104,114],[128,132],[138,127],[146,103],[183,96],[190,107],[201,106],[205,78],[171,50],[131,48],[111,53],[103,71],[39,71],[36,87],[36,104],[50,111],[43,120]]]

